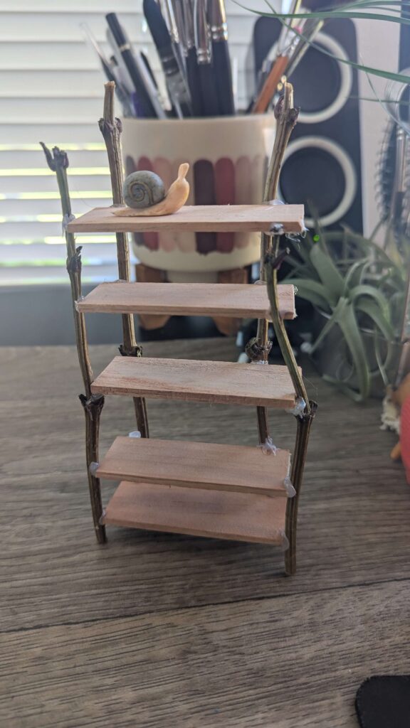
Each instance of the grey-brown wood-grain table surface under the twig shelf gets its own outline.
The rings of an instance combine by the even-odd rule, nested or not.
[[[224,339],[144,352],[236,355]],[[95,373],[115,353],[92,347]],[[320,411],[286,578],[265,545],[112,526],[98,546],[74,349],[0,349],[0,371],[2,727],[355,728],[360,683],[410,672],[410,488],[379,402],[309,377]],[[256,443],[252,408],[148,413],[154,437]],[[293,418],[271,423],[292,447]],[[131,400],[107,397],[101,453],[134,429]]]

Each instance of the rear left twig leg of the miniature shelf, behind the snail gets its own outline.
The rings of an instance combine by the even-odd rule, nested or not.
[[[120,119],[115,118],[114,92],[115,83],[107,82],[104,85],[104,111],[103,117],[98,122],[101,134],[104,137],[107,147],[109,173],[111,175],[112,202],[114,205],[123,205],[123,160],[121,156],[121,132],[122,124]],[[128,250],[127,234],[116,233],[118,277],[120,280],[131,280],[130,256]],[[136,342],[133,314],[123,314],[123,344],[120,346],[120,354],[123,357],[141,357],[142,347]],[[148,438],[147,405],[144,398],[134,397],[134,408],[136,424],[141,432],[142,438]]]

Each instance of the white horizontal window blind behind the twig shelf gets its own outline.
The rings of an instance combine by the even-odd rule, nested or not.
[[[250,7],[255,9],[255,0]],[[1,1],[0,285],[67,281],[55,175],[45,165],[39,141],[69,154],[74,214],[110,204],[107,157],[97,126],[105,79],[80,23],[88,23],[108,52],[104,14],[115,10],[159,74],[141,8],[142,0]],[[231,0],[227,13],[243,108],[252,76],[250,42],[256,16]],[[81,236],[79,243],[84,282],[117,277],[113,236]]]

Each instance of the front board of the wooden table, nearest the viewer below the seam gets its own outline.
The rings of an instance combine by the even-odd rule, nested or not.
[[[1,724],[357,728],[360,683],[409,671],[409,597],[386,582],[163,612],[157,591],[149,614],[6,634]]]

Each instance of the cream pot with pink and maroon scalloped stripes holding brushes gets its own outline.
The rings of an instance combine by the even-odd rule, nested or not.
[[[273,114],[208,119],[124,119],[125,174],[152,170],[166,189],[189,162],[187,205],[260,203],[274,143]],[[217,280],[260,257],[258,233],[148,232],[134,235],[139,261],[170,281]]]

